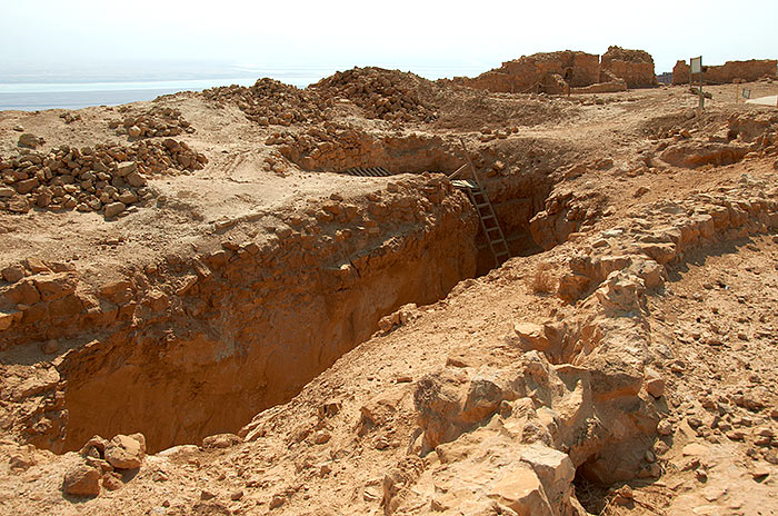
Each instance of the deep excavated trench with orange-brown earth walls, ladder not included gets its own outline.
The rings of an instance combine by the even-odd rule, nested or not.
[[[411,175],[390,177],[353,205],[330,201],[292,217],[265,242],[166,258],[154,275],[106,286],[98,297],[114,318],[97,334],[71,331],[81,346],[57,361],[62,401],[28,421],[29,440],[59,453],[93,435],[140,431],[158,452],[235,433],[290,400],[383,316],[433,304],[461,279],[488,272],[495,257],[475,207],[443,175],[422,172],[451,173],[462,150],[439,138],[371,145],[379,150],[368,158],[352,159],[365,151],[356,146],[326,166],[290,158],[326,172],[376,165],[366,159],[378,155],[392,173]],[[552,189],[547,161],[530,152],[522,169],[497,158],[506,156],[470,153],[511,255],[537,252],[530,220]]]

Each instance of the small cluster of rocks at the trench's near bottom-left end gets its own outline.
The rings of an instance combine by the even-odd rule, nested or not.
[[[146,456],[143,434],[118,435],[110,441],[94,436],[81,448],[83,462],[64,474],[62,490],[71,496],[94,497],[100,494],[100,484],[108,490],[123,486],[122,472],[136,469]]]

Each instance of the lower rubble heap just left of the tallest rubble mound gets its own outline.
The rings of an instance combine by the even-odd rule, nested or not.
[[[327,108],[313,92],[267,78],[249,88],[236,85],[211,88],[202,96],[207,100],[237,103],[246,118],[260,126],[320,122]]]

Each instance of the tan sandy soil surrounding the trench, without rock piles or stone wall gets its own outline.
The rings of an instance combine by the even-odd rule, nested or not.
[[[752,97],[778,92],[772,82],[745,86],[751,88]],[[329,105],[326,118],[379,139],[440,137],[457,148],[462,138],[473,156],[482,157],[486,165],[477,167],[483,175],[497,158],[520,155],[522,159],[507,163],[508,169],[516,167],[512,175],[490,176],[487,183],[553,178],[548,199],[569,192],[572,200],[567,202],[577,202],[575,206],[587,214],[573,230],[542,252],[512,258],[487,275],[463,279],[436,304],[408,308],[403,321],[390,331],[377,331],[340,357],[288,404],[265,410],[242,430],[235,428],[239,439],[223,447],[192,443],[147,455],[140,468],[119,470],[116,490],[106,488],[103,480],[97,497],[64,495],[63,475],[82,463],[82,457],[73,452],[54,455],[36,448],[9,430],[0,440],[0,512],[522,514],[492,495],[482,498],[493,505],[483,502],[482,506],[468,506],[463,500],[475,504],[480,499],[476,488],[467,492],[471,488],[468,482],[491,482],[483,478],[507,470],[511,463],[501,459],[489,474],[475,467],[468,470],[463,465],[471,457],[467,458],[466,452],[459,458],[445,458],[447,443],[419,459],[422,465],[411,475],[412,480],[403,480],[402,499],[396,502],[399,495],[387,487],[386,478],[402,469],[399,465],[408,457],[419,458],[423,425],[415,393],[420,380],[455,369],[466,371],[468,377],[506,375],[527,359],[528,349],[517,345],[515,324],[596,317],[601,310],[591,307],[595,290],[606,278],[599,278],[572,302],[557,295],[557,281],[577,256],[595,256],[602,246],[616,256],[650,244],[650,235],[629,231],[644,226],[648,232],[668,227],[670,224],[661,218],[662,207],[677,204],[677,214],[691,216],[705,204],[700,196],[735,190],[741,196],[738,199],[767,191],[767,198],[775,200],[769,197],[778,177],[775,142],[774,147],[749,147],[750,153],[728,165],[687,168],[661,159],[668,147],[685,142],[701,147],[721,130],[726,133],[732,117],[769,118],[775,109],[736,105],[734,85],[707,88],[714,98],[701,117],[694,115],[697,98],[684,87],[570,98],[487,95],[439,86],[436,90],[429,85],[423,88],[421,99],[436,110],[436,120],[400,123],[368,119],[355,103],[340,101]],[[275,133],[300,135],[318,123],[259,125],[247,119],[235,103],[215,102],[193,93],[140,102],[129,109],[154,107],[181,111],[196,131],[176,139],[205,153],[206,167],[149,173],[152,197],[133,205],[118,219],[106,219],[97,211],[36,208],[18,215],[0,210],[0,269],[30,257],[64,262],[84,284],[97,288],[128,271],[143,270],[170,254],[184,259],[196,257],[220,249],[225,240],[261,245],[277,229],[287,227],[291,218],[320,210],[333,195],[365,197],[397,179],[303,170],[287,159],[280,147],[266,145]],[[132,142],[108,126],[109,120],[124,115],[119,108],[80,110],[80,120],[70,123],[60,118],[62,112],[0,112],[0,157],[17,151],[21,132],[14,127],[19,125],[24,132],[46,140],[43,152],[61,145]],[[775,136],[772,128],[768,125],[766,133]],[[485,138],[496,131],[506,135]],[[545,152],[545,148],[563,151]],[[510,149],[521,151],[511,155]],[[598,166],[601,160],[612,161]],[[426,161],[420,158],[419,163],[423,167]],[[749,182],[751,179],[754,182]],[[553,217],[550,206],[542,201],[530,215],[542,210]],[[529,226],[529,220],[526,224]],[[549,224],[557,224],[557,219]],[[624,232],[625,239],[631,235],[631,240],[607,247],[608,231],[614,230]],[[579,474],[572,490],[582,505],[580,510],[609,515],[778,514],[777,264],[776,228],[765,225],[737,236],[725,237],[722,232],[720,238],[661,264],[666,276],[662,286],[649,288],[641,301],[641,324],[652,357],[641,364],[648,367],[650,363],[655,368],[661,365],[659,373],[666,386],[657,399],[641,390],[640,403],[659,416],[652,428],[635,440],[651,443],[636,449],[641,457],[650,454],[641,464],[646,472],[654,473],[635,472],[630,478],[607,485]],[[538,286],[542,271],[548,271],[548,291]],[[622,324],[630,317],[617,319]],[[632,353],[629,339],[620,343],[619,356],[628,357]],[[32,377],[36,367],[56,360],[57,355],[44,354],[40,346],[36,341],[3,353],[2,381],[7,387]],[[594,367],[585,358],[576,360],[576,366]],[[19,417],[13,410],[24,410],[24,406],[18,408],[11,395],[3,396],[1,421],[8,430]],[[508,401],[515,399],[503,400]],[[328,406],[337,408],[330,414]],[[495,413],[476,429],[462,431],[451,440],[461,447],[455,449],[470,449],[467,439],[478,440],[478,436],[491,431],[499,416]],[[372,418],[368,429],[366,417]],[[657,420],[661,420],[658,427]],[[489,455],[488,449],[479,453]],[[652,464],[658,469],[651,469]],[[472,478],[468,478],[470,474]],[[460,492],[469,494],[460,496]],[[452,493],[460,496],[453,498],[458,502],[445,502],[446,496],[455,496]],[[562,505],[553,507],[561,510],[558,507]]]

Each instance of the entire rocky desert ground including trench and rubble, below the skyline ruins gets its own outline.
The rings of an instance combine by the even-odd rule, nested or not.
[[[0,112],[0,513],[778,514],[742,87],[778,93],[365,68]]]

